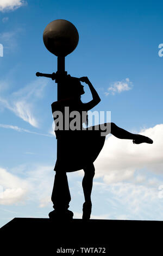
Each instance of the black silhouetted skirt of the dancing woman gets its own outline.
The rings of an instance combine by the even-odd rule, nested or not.
[[[95,126],[92,126],[95,127]],[[105,142],[100,130],[58,131],[55,171],[75,172],[93,163]]]

